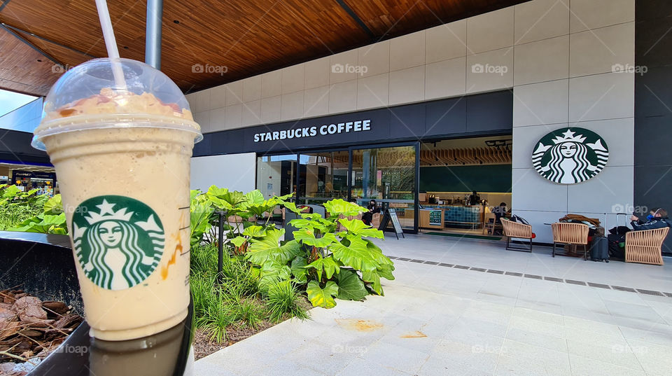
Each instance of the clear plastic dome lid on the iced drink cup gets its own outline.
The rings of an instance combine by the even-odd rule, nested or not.
[[[117,77],[113,70],[123,72]],[[94,59],[66,71],[44,99],[42,121],[32,145],[42,137],[109,127],[162,127],[203,136],[187,99],[162,71],[130,59]]]

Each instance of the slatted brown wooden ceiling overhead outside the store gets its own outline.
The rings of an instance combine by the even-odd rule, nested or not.
[[[164,0],[161,68],[193,92],[524,1]],[[146,0],[109,10],[120,55],[144,60]],[[62,74],[56,63],[106,56],[94,0],[0,0],[0,22],[3,89],[45,95]]]

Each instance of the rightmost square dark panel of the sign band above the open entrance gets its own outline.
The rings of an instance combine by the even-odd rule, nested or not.
[[[467,132],[512,129],[513,92],[511,90],[470,95],[466,99]]]

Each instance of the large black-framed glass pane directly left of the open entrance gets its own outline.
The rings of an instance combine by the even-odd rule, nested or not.
[[[415,154],[415,146],[353,150],[351,197],[364,207],[373,199],[382,209],[395,208],[402,228],[413,230]]]

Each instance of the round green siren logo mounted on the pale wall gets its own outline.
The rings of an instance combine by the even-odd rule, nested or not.
[[[562,128],[545,135],[532,153],[537,172],[554,183],[574,184],[599,174],[609,159],[605,141],[584,128]]]

